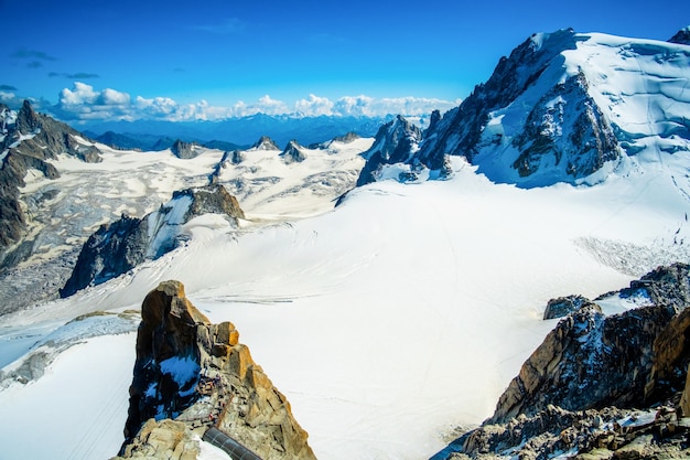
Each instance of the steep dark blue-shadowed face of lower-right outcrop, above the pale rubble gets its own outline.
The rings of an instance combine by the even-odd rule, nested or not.
[[[654,306],[605,317],[595,303],[583,306],[530,355],[492,420],[531,416],[549,404],[584,410],[644,400],[654,341],[675,312]]]

